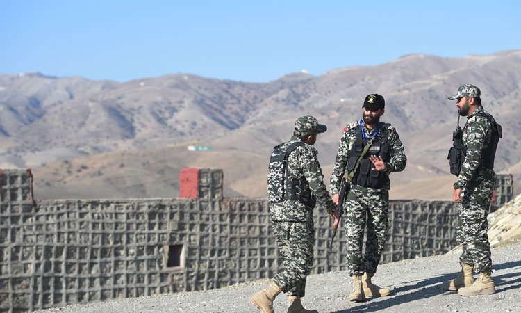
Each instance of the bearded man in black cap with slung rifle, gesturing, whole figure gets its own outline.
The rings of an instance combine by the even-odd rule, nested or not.
[[[380,122],[385,100],[381,95],[365,97],[361,120],[344,127],[331,174],[331,193],[338,204],[342,177],[352,176],[352,188],[345,198],[347,268],[353,280],[351,301],[388,296],[390,290],[371,282],[380,261],[388,228],[390,172],[404,170],[407,158],[395,127]],[[363,150],[370,143],[365,155]],[[356,163],[360,159],[358,167]],[[345,176],[346,175],[346,176]],[[349,179],[347,180],[349,181]],[[362,255],[367,227],[365,254]]]

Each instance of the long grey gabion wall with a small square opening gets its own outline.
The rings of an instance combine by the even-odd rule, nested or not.
[[[213,289],[271,278],[283,266],[265,199],[33,205],[30,173],[4,170],[2,182],[6,175],[13,184],[3,184],[0,203],[0,312]],[[6,190],[17,196],[4,200]],[[314,217],[313,273],[345,269],[344,230],[329,252],[331,219],[321,208]],[[391,201],[382,262],[447,252],[456,246],[456,224],[452,202]]]

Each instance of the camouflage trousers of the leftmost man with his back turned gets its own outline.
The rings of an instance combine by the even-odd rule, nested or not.
[[[313,220],[272,221],[272,228],[285,267],[284,271],[275,275],[273,280],[288,296],[303,297],[306,291],[306,277],[313,269],[315,244]]]

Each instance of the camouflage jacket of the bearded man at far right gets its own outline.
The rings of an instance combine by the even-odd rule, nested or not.
[[[463,189],[472,181],[479,184],[483,179],[494,179],[495,177],[493,169],[481,166],[483,165],[483,152],[490,145],[494,127],[485,117],[476,115],[479,112],[490,115],[483,109],[483,106],[478,106],[467,118],[461,135],[461,142],[467,147],[467,155],[461,166],[458,180],[454,183],[454,189]]]

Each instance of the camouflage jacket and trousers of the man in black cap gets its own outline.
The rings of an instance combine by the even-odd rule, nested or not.
[[[344,132],[340,138],[336,162],[331,174],[330,192],[332,194],[338,193],[340,189],[340,181],[345,174],[349,152],[356,142],[355,127],[360,127],[358,121],[349,123],[344,127]],[[363,127],[368,136],[376,131],[376,128],[368,129],[365,127],[365,123]],[[404,170],[407,157],[395,127],[384,122],[380,122],[380,127],[388,129],[391,160],[386,163],[386,174]],[[380,141],[379,136],[380,134],[376,136],[375,141]],[[364,271],[368,273],[376,273],[377,271],[383,245],[387,237],[389,188],[390,183],[378,189],[352,186],[352,190],[346,197],[344,225],[347,236],[347,268],[349,275],[361,274]],[[366,225],[367,241],[365,243],[365,255],[362,257],[363,234]]]

